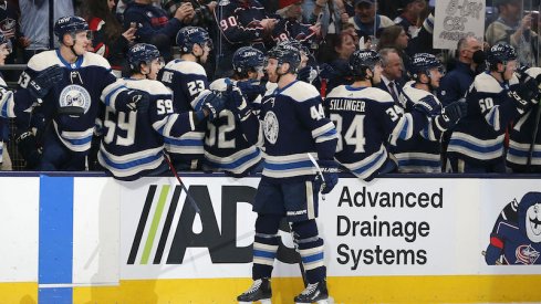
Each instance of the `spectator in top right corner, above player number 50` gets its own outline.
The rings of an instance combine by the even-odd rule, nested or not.
[[[517,60],[522,65],[535,65],[538,52],[537,33],[531,30],[532,14],[521,18],[521,0],[495,0],[498,19],[490,23],[485,32],[490,45],[511,44],[517,50]]]

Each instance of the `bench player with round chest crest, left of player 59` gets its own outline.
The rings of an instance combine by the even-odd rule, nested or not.
[[[122,81],[116,80],[105,59],[86,52],[90,40],[89,24],[84,19],[60,18],[54,24],[54,33],[60,48],[32,56],[21,74],[15,108],[22,111],[14,114],[18,119],[27,119],[25,109],[40,98],[48,123],[43,130],[39,169],[84,170],[100,98],[111,107],[128,112],[147,106],[148,97],[143,92],[127,90]],[[50,67],[52,65],[56,67]],[[58,73],[43,78],[48,71]],[[37,85],[40,86],[40,82],[51,90],[39,90]],[[30,132],[25,132],[18,141],[31,140],[29,138],[32,137]]]

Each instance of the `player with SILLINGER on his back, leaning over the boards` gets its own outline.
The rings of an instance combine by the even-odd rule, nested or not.
[[[409,139],[427,122],[422,112],[404,113],[387,92],[373,87],[382,73],[375,51],[355,51],[350,69],[354,83],[333,88],[325,106],[340,134],[336,160],[358,178],[371,180],[396,169],[387,153],[387,140],[396,145],[398,139]]]

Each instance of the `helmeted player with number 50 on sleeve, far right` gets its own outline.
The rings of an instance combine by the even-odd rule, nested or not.
[[[468,115],[455,127],[447,148],[454,172],[504,172],[503,138],[507,125],[535,102],[534,78],[519,82],[517,53],[507,44],[487,54],[489,71],[476,76],[468,91]]]

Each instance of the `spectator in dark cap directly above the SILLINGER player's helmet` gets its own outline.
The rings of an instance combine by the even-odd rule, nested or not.
[[[376,13],[375,0],[355,0],[355,15],[348,22],[355,25],[360,38],[368,40],[370,36],[378,36],[384,28],[394,25],[385,15]]]

